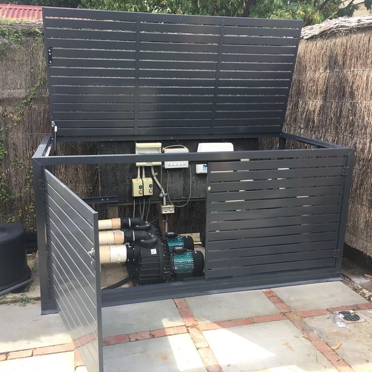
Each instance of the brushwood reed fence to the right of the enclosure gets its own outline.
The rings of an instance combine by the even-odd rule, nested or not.
[[[300,42],[285,130],[356,149],[346,243],[372,256],[372,17],[364,21]]]

